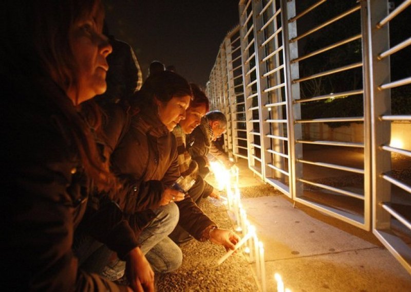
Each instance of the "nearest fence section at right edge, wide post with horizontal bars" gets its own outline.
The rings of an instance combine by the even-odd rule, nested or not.
[[[409,23],[410,5],[410,0],[404,1],[394,11],[388,13],[387,7],[381,5],[381,1],[367,1],[372,97],[372,232],[411,273],[411,248],[406,244],[403,236],[404,233],[409,234],[411,230],[411,186],[409,181],[404,182],[401,175],[396,174],[393,161],[391,161],[391,153],[411,157],[411,151],[403,149],[400,145],[395,147],[390,145],[391,122],[411,121],[409,113],[400,112],[396,115],[391,113],[393,109],[391,98],[398,98],[395,97],[396,92],[393,90],[411,84],[411,76],[400,76],[400,79],[394,81],[391,81],[390,77],[390,61],[395,60],[391,57],[401,52],[408,60],[411,56],[408,47],[411,45],[411,33],[404,39],[395,40],[394,46],[390,46],[390,29],[388,28],[388,25],[394,29],[395,26],[400,27]],[[400,13],[407,7],[408,14],[401,15]],[[392,37],[391,40],[393,40]],[[407,52],[404,51],[406,47],[408,47]],[[405,65],[401,62],[397,63],[391,66],[392,72],[395,72],[398,66]],[[408,88],[410,88],[409,85]],[[411,90],[408,92],[411,93]],[[408,95],[408,98],[411,96]]]

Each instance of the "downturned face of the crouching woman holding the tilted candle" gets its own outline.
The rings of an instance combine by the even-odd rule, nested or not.
[[[189,107],[190,100],[191,96],[189,95],[174,96],[168,102],[156,100],[160,120],[170,132],[173,131],[181,119],[185,118],[185,110]]]

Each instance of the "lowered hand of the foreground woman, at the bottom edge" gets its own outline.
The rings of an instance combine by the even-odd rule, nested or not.
[[[127,253],[125,272],[133,291],[154,292],[154,271],[139,247]]]

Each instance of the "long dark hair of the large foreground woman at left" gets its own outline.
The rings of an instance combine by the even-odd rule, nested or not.
[[[78,67],[73,62],[71,31],[80,20],[97,12],[102,23],[104,10],[100,0],[3,0],[0,3],[1,70],[15,78],[36,83],[52,79],[67,92],[78,87]],[[48,90],[48,89],[44,89]],[[50,88],[51,93],[51,88]],[[114,187],[114,176],[101,161],[96,142],[87,123],[71,103],[45,94],[64,116],[68,134],[77,146],[83,167],[99,190]],[[54,97],[54,98],[53,98]],[[67,97],[68,98],[68,97]]]

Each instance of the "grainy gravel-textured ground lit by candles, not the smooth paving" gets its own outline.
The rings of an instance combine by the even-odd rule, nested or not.
[[[274,193],[272,187],[256,186],[242,188],[243,197],[255,197]],[[225,205],[218,200],[207,198],[200,204],[201,209],[221,228],[233,229]],[[183,263],[174,273],[158,275],[157,290],[177,291],[258,291],[252,264],[241,252],[231,255],[217,266],[216,261],[225,250],[210,242],[192,240],[181,246]]]

